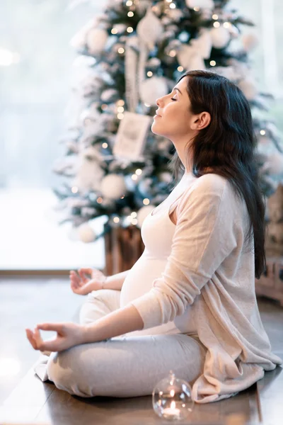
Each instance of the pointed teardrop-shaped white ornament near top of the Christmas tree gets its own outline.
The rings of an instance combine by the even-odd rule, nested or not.
[[[152,50],[162,33],[163,25],[160,19],[151,11],[151,7],[149,7],[144,18],[137,24],[137,34],[146,47]]]

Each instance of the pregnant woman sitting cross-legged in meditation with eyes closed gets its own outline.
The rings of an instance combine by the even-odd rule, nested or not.
[[[265,203],[243,93],[208,71],[186,72],[156,101],[151,130],[175,147],[183,176],[141,227],[145,249],[126,272],[71,287],[88,297],[80,323],[26,329],[52,351],[47,378],[81,397],[150,395],[173,370],[196,402],[231,397],[282,363],[255,297],[265,269]],[[173,168],[175,166],[175,169]],[[57,331],[43,341],[40,329]]]

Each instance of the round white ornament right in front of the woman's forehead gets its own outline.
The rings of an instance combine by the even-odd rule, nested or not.
[[[156,99],[168,94],[168,84],[164,77],[151,77],[141,83],[141,101],[155,105]]]

